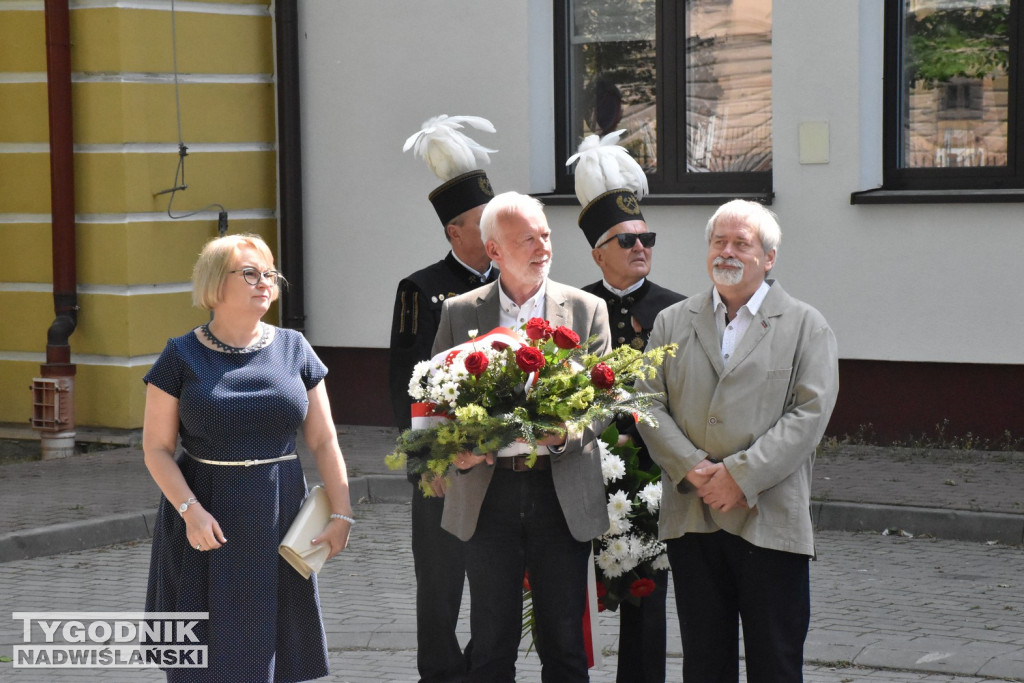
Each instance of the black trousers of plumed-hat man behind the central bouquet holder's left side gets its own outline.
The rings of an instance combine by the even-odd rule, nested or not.
[[[455,633],[466,581],[465,546],[441,528],[443,511],[443,498],[424,498],[413,486],[416,666],[421,683],[466,680],[467,657]]]

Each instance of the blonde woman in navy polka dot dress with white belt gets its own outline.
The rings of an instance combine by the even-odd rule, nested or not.
[[[303,579],[278,555],[306,493],[293,455],[298,428],[336,513],[313,541],[329,544],[331,556],[348,544],[348,475],[327,368],[301,334],[261,321],[279,294],[272,268],[256,236],[208,243],[193,272],[193,301],[213,317],[170,339],[144,378],[142,449],[163,492],[145,609],[209,612],[196,629],[208,666],[167,669],[169,681],[328,674],[315,574]],[[175,457],[178,437],[183,452]]]

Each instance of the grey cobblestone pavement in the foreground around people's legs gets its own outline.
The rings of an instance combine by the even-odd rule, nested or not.
[[[349,549],[321,580],[332,681],[415,681],[409,506],[356,506]],[[150,544],[140,542],[0,563],[0,613],[139,610]],[[1024,680],[1024,549],[877,533],[823,531],[811,565],[812,622],[805,669],[812,683]],[[680,680],[670,596],[670,681]],[[463,609],[468,636],[468,601]],[[20,623],[0,618],[0,655]],[[601,645],[615,648],[615,614],[600,615]],[[523,645],[525,647],[525,644]],[[540,680],[536,653],[521,681]],[[957,675],[959,676],[957,678]],[[0,664],[2,681],[161,681],[152,671],[26,670]],[[614,680],[606,656],[594,681]]]

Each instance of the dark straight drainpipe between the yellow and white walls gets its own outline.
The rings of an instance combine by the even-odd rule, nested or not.
[[[299,121],[298,0],[275,4],[278,52],[278,182],[281,196],[281,269],[288,287],[281,293],[282,324],[305,331],[302,262],[302,130]]]

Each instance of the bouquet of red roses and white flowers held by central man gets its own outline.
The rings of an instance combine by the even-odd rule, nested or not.
[[[597,355],[587,351],[596,338],[581,345],[572,330],[544,318],[530,318],[522,332],[525,338],[505,328],[473,331],[467,343],[416,366],[413,426],[385,458],[388,467],[400,469],[412,457],[413,471],[444,476],[459,452],[497,453],[516,439],[528,444],[532,466],[538,440],[549,434],[579,433],[621,413],[655,424],[654,394],[633,384],[650,377],[675,344]],[[421,488],[432,495],[426,481]]]

